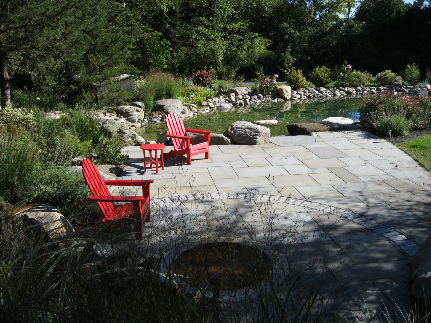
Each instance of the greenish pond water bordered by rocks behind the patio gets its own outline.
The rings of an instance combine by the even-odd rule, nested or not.
[[[359,96],[344,98],[315,99],[311,102],[284,101],[255,106],[233,106],[228,112],[212,110],[203,115],[184,120],[184,127],[200,130],[211,130],[223,134],[226,128],[235,121],[256,121],[277,119],[277,126],[268,126],[271,136],[281,136],[287,133],[287,124],[294,122],[319,122],[329,117],[350,118],[359,120],[358,109],[362,105]],[[166,124],[149,125],[137,133],[145,140],[156,140],[166,130]]]

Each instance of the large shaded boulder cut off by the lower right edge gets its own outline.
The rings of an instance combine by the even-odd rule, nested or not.
[[[422,243],[418,253],[410,261],[412,295],[431,306],[431,234]]]

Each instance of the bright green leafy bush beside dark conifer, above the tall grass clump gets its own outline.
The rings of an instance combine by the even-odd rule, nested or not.
[[[134,65],[144,71],[151,68],[163,70],[168,67],[171,58],[169,40],[163,39],[162,34],[153,31],[149,25],[141,28],[141,36],[137,39],[134,52]]]

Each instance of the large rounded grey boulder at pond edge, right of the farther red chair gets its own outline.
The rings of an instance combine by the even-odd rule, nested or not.
[[[247,121],[235,121],[226,129],[224,135],[239,145],[261,145],[269,143],[269,128]]]

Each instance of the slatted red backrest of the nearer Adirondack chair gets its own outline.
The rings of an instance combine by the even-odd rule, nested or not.
[[[94,196],[111,196],[105,182],[100,176],[99,170],[90,159],[82,161],[82,174],[84,174],[85,183],[87,183]],[[112,214],[115,209],[115,205],[112,202],[97,203],[105,216]]]

